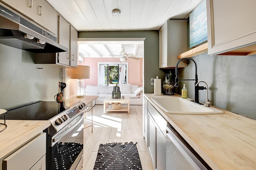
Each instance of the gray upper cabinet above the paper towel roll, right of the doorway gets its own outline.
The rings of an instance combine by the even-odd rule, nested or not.
[[[178,55],[187,51],[187,20],[167,20],[159,30],[159,68],[174,68]],[[186,67],[181,61],[179,67]]]

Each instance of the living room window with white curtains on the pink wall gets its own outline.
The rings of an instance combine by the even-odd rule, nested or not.
[[[128,63],[98,63],[98,85],[126,84]]]

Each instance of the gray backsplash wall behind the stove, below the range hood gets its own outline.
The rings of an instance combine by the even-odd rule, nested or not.
[[[34,64],[34,53],[2,44],[0,60],[0,108],[54,101],[62,69]]]

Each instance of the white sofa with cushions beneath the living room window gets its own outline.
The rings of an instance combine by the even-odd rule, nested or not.
[[[130,105],[142,105],[143,101],[143,87],[131,84],[118,85],[122,95],[130,97]],[[106,97],[112,97],[112,91],[114,86],[94,86],[86,85],[86,95],[98,95],[99,97],[95,100],[96,105],[103,105],[103,100]]]

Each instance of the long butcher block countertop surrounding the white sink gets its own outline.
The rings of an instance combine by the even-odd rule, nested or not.
[[[255,120],[223,109],[214,115],[169,114],[151,100],[155,95],[144,97],[213,170],[256,170]]]

